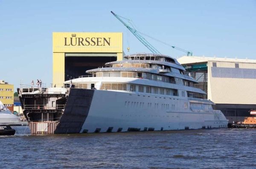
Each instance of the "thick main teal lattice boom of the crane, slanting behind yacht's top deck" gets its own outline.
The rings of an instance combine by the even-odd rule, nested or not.
[[[154,46],[152,46],[142,35],[140,35],[140,33],[134,29],[131,28],[128,24],[126,24],[117,14],[115,14],[113,11],[111,11],[111,13],[116,17],[116,19],[118,19],[122,24],[125,25],[126,28],[129,29],[129,31],[131,31],[132,34],[134,34],[135,37],[137,37],[137,39],[143,43],[143,45],[145,45],[153,54],[160,54],[159,51],[157,51],[156,48],[154,48]]]

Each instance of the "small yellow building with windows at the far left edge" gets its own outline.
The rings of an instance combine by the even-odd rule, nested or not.
[[[13,111],[13,85],[0,80],[0,101]]]

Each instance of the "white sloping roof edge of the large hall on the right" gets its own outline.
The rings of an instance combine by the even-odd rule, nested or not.
[[[178,62],[180,62],[180,64],[202,63],[202,62],[208,62],[208,61],[256,63],[255,59],[220,58],[220,57],[205,57],[205,56],[182,56],[177,60]]]

